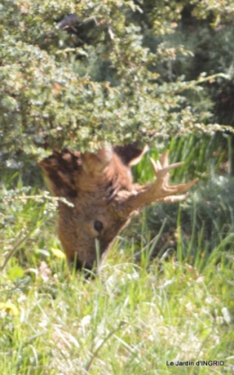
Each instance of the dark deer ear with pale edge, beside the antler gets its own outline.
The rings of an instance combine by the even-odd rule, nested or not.
[[[139,142],[134,142],[123,146],[114,146],[113,151],[121,158],[123,164],[131,167],[139,163],[144,153],[148,151],[148,145],[139,149]]]

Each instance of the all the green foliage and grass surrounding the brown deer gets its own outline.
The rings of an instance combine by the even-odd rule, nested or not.
[[[233,1],[2,0],[0,19],[2,373],[233,375]],[[200,182],[86,280],[37,161],[136,139]],[[148,154],[133,174],[153,178]]]

